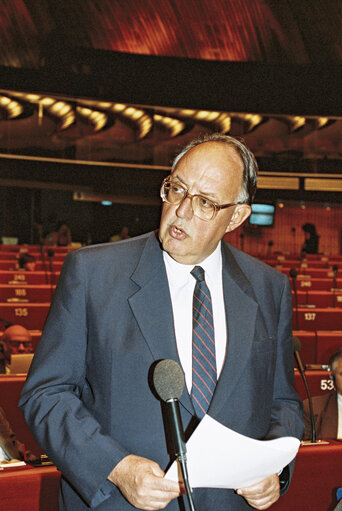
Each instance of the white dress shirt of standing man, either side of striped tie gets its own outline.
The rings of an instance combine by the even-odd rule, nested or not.
[[[227,346],[226,313],[223,299],[221,242],[200,264],[181,264],[163,252],[172,301],[177,350],[189,393],[192,387],[192,298],[196,279],[191,275],[195,266],[205,272],[213,306],[217,378],[219,377]]]

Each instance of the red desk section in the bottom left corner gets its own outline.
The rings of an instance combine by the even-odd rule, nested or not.
[[[59,481],[55,466],[6,468],[0,472],[1,509],[58,511]]]

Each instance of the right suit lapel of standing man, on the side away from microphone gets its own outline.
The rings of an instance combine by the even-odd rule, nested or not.
[[[258,310],[250,282],[225,244],[222,256],[228,339],[225,362],[209,407],[212,416],[219,413],[246,370]]]

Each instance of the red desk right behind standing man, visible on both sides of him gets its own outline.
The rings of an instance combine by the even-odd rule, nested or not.
[[[271,511],[332,511],[342,486],[342,443],[299,448],[290,489]],[[56,467],[23,467],[0,472],[6,511],[57,511],[60,473]]]

